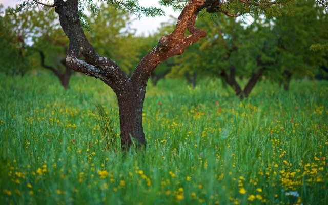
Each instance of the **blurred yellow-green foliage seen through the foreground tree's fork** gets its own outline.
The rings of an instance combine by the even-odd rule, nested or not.
[[[90,42],[100,55],[115,59],[122,70],[131,75],[140,58],[130,15],[105,4],[100,9],[101,15],[89,18],[92,22],[92,31],[87,33]]]

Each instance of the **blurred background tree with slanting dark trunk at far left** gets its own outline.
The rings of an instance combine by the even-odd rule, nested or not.
[[[7,9],[6,12],[9,10]],[[10,62],[13,65],[10,69],[12,71],[18,68],[19,72],[23,72],[22,67],[31,68],[32,64],[48,69],[67,89],[72,74],[72,70],[65,65],[68,40],[63,36],[59,22],[52,18],[52,14],[44,9],[31,9],[15,15],[6,15],[7,32],[2,35],[7,38],[12,35],[12,39],[16,39],[16,42],[12,40],[9,42],[16,44],[18,55],[13,55],[13,57],[18,56],[19,64],[8,59],[2,61]]]

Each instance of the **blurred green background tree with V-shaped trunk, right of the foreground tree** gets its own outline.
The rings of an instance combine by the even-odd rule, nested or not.
[[[268,26],[256,19],[246,27],[240,19],[224,15],[203,16],[197,26],[208,31],[207,37],[181,55],[178,61],[186,63],[175,70],[221,77],[223,85],[229,85],[238,97],[248,97],[273,61],[268,53]],[[244,88],[238,78],[247,79]]]

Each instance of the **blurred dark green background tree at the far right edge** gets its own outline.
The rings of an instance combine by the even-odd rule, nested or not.
[[[292,76],[314,77],[318,68],[324,64],[324,53],[312,52],[311,45],[327,39],[326,12],[316,5],[315,1],[297,1],[290,8],[283,9],[280,16],[268,21],[273,25],[275,44],[271,48],[275,59],[274,74],[268,77],[283,84],[289,89]],[[323,26],[323,27],[322,27]]]

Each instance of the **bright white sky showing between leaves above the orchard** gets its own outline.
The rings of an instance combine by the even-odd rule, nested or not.
[[[0,0],[0,4],[3,4],[6,7],[11,6],[14,7],[16,4],[18,4],[20,0]],[[43,1],[45,2],[45,1]],[[53,2],[53,1],[49,1]],[[159,1],[156,0],[140,0],[139,4],[140,6],[156,6],[160,7],[158,4]],[[174,12],[171,8],[168,7],[161,7],[164,11],[166,16],[160,16],[160,17],[141,17],[140,19],[135,16],[135,20],[132,23],[132,28],[136,29],[136,34],[141,35],[145,34],[148,35],[150,33],[153,33],[156,31],[157,28],[159,28],[160,23],[166,22],[169,19],[170,15],[173,15],[175,17],[178,17],[178,13]]]

